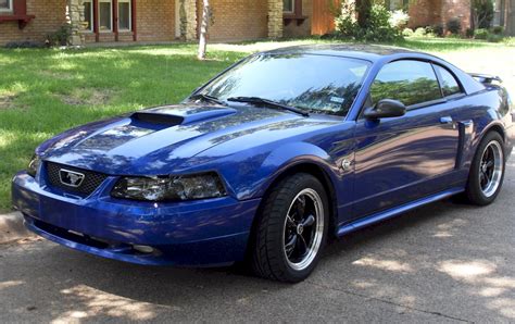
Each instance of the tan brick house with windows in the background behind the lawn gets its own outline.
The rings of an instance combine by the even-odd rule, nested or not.
[[[334,28],[330,2],[338,0],[211,0],[211,40],[322,35]],[[407,0],[387,0],[398,9]],[[503,13],[515,0],[495,0]],[[512,3],[510,5],[503,4]],[[501,5],[502,4],[502,5]],[[411,26],[470,23],[469,0],[416,0],[409,4]],[[0,45],[43,41],[70,22],[72,43],[194,40],[201,0],[0,0]],[[502,15],[503,24],[513,14]],[[501,18],[500,18],[501,20]],[[513,25],[513,24],[512,24]]]

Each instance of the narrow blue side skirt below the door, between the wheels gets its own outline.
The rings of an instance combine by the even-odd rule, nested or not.
[[[454,196],[454,195],[463,192],[463,191],[465,191],[464,188],[448,189],[445,191],[440,191],[438,194],[435,194],[435,195],[431,195],[431,196],[428,196],[428,197],[425,197],[425,198],[420,198],[420,199],[414,200],[412,202],[401,204],[399,207],[395,207],[395,208],[392,208],[392,209],[389,209],[389,210],[386,210],[386,211],[381,211],[381,212],[368,215],[364,219],[360,219],[360,220],[354,221],[352,223],[341,225],[338,228],[337,235],[338,236],[347,235],[349,233],[352,233],[354,230],[357,230],[357,229],[361,229],[363,227],[369,226],[372,224],[375,224],[375,223],[394,217],[394,216],[397,216],[399,214],[402,214],[404,212],[407,212],[412,209],[416,209],[418,207],[422,207],[422,205],[425,205],[425,204],[428,204],[428,203],[431,203],[431,202],[435,202],[435,201]]]

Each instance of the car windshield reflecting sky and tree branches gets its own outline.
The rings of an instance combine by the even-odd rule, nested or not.
[[[211,82],[202,95],[259,97],[305,111],[347,115],[369,63],[315,54],[262,54]]]

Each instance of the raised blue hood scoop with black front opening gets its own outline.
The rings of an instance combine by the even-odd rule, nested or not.
[[[171,127],[176,125],[190,125],[208,120],[215,120],[235,113],[236,110],[233,108],[219,109],[204,107],[202,109],[192,110],[161,108],[136,112],[130,116],[130,119],[134,122]]]

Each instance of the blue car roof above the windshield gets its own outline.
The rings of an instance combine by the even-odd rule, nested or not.
[[[394,54],[412,54],[414,57],[426,55],[426,53],[407,50],[404,48],[381,46],[381,45],[365,45],[365,43],[324,43],[324,45],[303,45],[279,48],[262,54],[318,54],[318,55],[334,55],[362,59],[372,62],[394,55]]]

